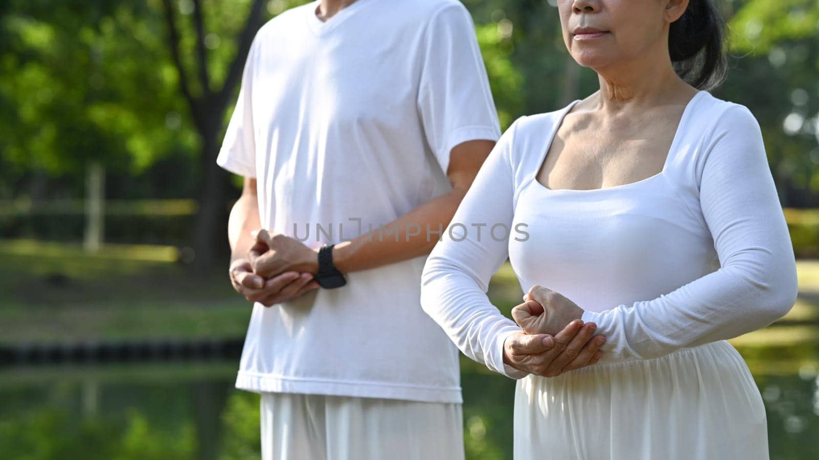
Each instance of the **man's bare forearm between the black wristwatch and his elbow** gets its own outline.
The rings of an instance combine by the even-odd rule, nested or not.
[[[429,254],[438,238],[446,232],[465,193],[462,187],[453,188],[380,230],[338,243],[333,248],[333,264],[342,273],[348,273]]]

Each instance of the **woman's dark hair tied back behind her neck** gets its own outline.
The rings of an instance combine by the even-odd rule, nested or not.
[[[724,28],[712,0],[690,0],[686,12],[671,24],[668,52],[674,70],[695,88],[711,89],[726,78]]]

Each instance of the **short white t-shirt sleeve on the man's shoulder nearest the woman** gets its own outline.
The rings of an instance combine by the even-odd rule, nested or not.
[[[437,10],[424,31],[418,110],[432,153],[446,173],[461,142],[500,138],[495,102],[469,11],[460,2]]]

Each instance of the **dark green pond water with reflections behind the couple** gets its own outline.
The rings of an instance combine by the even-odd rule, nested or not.
[[[259,458],[259,399],[233,376],[233,362],[3,370],[2,458]],[[817,458],[817,368],[754,378],[771,460]],[[462,385],[467,458],[512,458],[514,381],[464,362]]]

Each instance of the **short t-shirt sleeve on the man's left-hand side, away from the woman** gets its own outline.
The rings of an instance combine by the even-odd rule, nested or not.
[[[230,116],[228,129],[224,133],[222,147],[219,149],[219,156],[216,157],[216,164],[231,173],[239,174],[248,178],[256,177],[256,140],[253,129],[253,88],[252,75],[253,67],[257,59],[256,47],[258,35],[251,44],[247,53],[244,70],[242,70],[242,83],[239,87],[239,97],[236,106],[233,108],[233,115]]]

